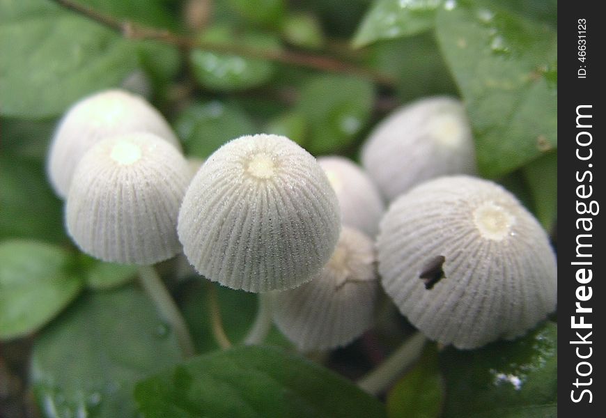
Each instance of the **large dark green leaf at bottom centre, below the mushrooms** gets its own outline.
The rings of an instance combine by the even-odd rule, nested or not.
[[[352,382],[277,348],[239,347],[195,357],[143,380],[134,396],[154,417],[384,417]]]

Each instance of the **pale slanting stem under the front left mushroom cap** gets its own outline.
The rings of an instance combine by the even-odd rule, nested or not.
[[[194,343],[187,330],[187,325],[185,325],[185,320],[153,266],[139,266],[139,281],[160,311],[160,315],[174,330],[183,355],[185,357],[194,355]]]

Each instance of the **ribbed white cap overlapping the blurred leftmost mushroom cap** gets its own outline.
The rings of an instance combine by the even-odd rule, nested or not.
[[[65,221],[82,251],[104,261],[153,264],[177,254],[177,217],[189,165],[148,133],[109,137],[82,157]]]

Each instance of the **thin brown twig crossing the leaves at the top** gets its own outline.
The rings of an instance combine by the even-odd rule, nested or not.
[[[371,68],[362,68],[352,63],[339,61],[328,56],[303,54],[293,51],[270,51],[266,49],[252,49],[244,45],[224,44],[215,42],[206,42],[188,36],[180,36],[164,29],[155,29],[143,26],[130,20],[118,20],[109,15],[94,10],[88,6],[83,6],[72,0],[52,0],[55,3],[69,10],[88,17],[109,29],[112,29],[122,36],[137,40],[157,40],[170,45],[175,45],[183,49],[200,48],[219,53],[237,54],[254,59],[266,59],[279,63],[297,65],[315,70],[327,72],[342,72],[352,75],[358,75],[372,79],[374,82],[385,86],[394,86],[394,79],[382,72],[372,70]]]

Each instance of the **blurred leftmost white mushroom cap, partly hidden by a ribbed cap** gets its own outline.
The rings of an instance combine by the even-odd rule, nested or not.
[[[93,145],[130,132],[150,132],[181,149],[162,114],[138,95],[112,89],[73,104],[57,125],[49,148],[47,173],[56,194],[67,196],[78,162]]]

